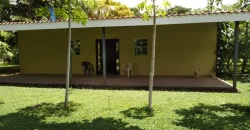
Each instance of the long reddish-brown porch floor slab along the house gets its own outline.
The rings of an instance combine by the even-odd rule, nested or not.
[[[72,86],[74,88],[98,88],[98,89],[148,89],[148,76],[107,76],[104,82],[102,76],[73,75]],[[0,76],[1,85],[32,85],[63,87],[65,75],[5,75]],[[185,89],[185,90],[233,90],[232,85],[215,77],[155,77],[154,89]]]

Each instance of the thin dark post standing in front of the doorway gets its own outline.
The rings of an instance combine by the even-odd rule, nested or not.
[[[103,71],[103,80],[106,81],[106,43],[105,43],[105,27],[102,27],[102,71]]]

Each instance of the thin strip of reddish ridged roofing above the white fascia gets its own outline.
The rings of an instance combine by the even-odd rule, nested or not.
[[[192,16],[192,15],[216,15],[216,14],[232,14],[232,13],[244,13],[250,12],[250,10],[240,10],[240,11],[216,11],[216,12],[200,12],[200,13],[188,13],[188,14],[170,14],[166,17],[182,17],[182,16]],[[113,18],[89,18],[89,20],[112,20],[112,19],[134,19],[142,18],[141,16],[132,17],[113,17]],[[13,25],[13,24],[30,24],[30,23],[54,23],[54,22],[66,22],[67,20],[56,20],[56,21],[34,21],[34,22],[2,22],[0,25]]]

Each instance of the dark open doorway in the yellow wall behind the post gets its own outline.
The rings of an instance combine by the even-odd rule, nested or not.
[[[106,72],[107,74],[120,74],[119,39],[106,39]],[[103,74],[102,40],[96,40],[96,70]]]

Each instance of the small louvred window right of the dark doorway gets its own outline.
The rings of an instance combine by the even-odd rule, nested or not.
[[[136,39],[135,40],[135,55],[147,55],[148,54],[148,40]]]

